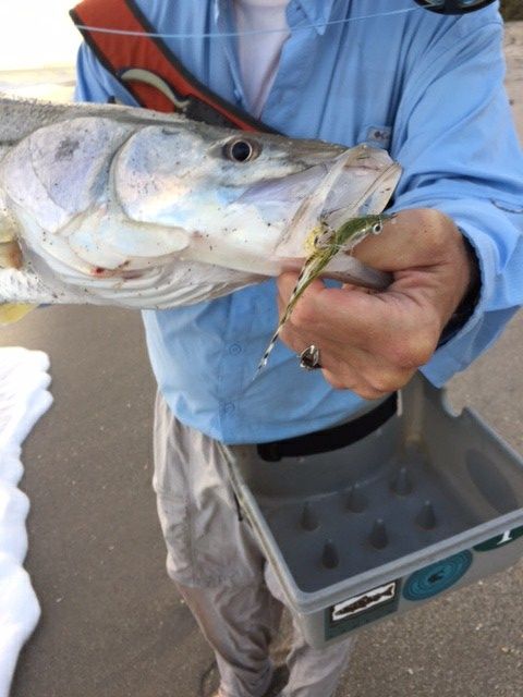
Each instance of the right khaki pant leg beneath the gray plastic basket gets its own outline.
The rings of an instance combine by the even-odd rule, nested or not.
[[[281,584],[272,566],[266,566],[266,583],[270,592],[281,603],[288,604]],[[295,615],[292,616],[292,648],[287,658],[289,682],[280,697],[331,697],[340,675],[346,667],[354,638],[333,644],[323,649],[314,649],[306,641]]]

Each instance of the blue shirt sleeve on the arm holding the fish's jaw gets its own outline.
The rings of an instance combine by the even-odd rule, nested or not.
[[[503,87],[502,23],[494,13],[463,20],[418,53],[392,144],[404,170],[393,210],[447,213],[479,262],[474,314],[423,368],[436,386],[485,351],[523,303],[523,157]]]

